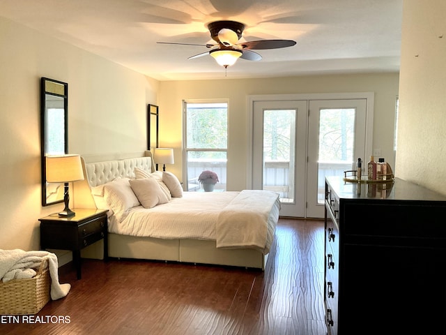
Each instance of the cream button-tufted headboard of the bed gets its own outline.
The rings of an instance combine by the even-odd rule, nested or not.
[[[91,187],[105,184],[117,177],[134,178],[134,168],[155,171],[151,151],[81,156],[81,161],[84,180],[73,183],[74,208],[95,208]]]

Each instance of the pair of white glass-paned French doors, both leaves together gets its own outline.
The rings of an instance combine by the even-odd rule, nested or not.
[[[371,153],[372,111],[373,94],[253,99],[252,188],[277,191],[281,216],[323,218],[325,177],[343,175]]]

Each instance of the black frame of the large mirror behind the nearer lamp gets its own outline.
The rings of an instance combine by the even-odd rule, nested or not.
[[[47,201],[47,167],[46,156],[51,154],[48,152],[48,139],[49,139],[49,117],[47,115],[47,101],[46,96],[59,96],[63,98],[63,154],[68,154],[68,84],[66,82],[59,82],[59,80],[53,80],[46,77],[40,78],[40,161],[42,172],[42,206],[49,206],[50,204],[58,204],[63,202],[63,194],[61,198],[57,198],[54,201]],[[59,153],[61,154],[61,153]],[[61,183],[63,186],[63,183]]]

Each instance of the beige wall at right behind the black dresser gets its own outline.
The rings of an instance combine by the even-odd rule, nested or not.
[[[446,194],[446,1],[403,2],[397,176]]]

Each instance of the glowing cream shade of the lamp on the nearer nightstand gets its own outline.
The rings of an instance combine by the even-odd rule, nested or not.
[[[84,179],[79,155],[47,156],[46,159],[49,183],[66,183]]]

